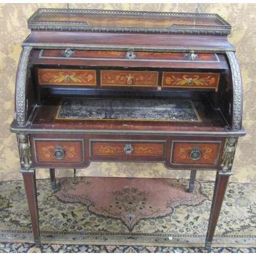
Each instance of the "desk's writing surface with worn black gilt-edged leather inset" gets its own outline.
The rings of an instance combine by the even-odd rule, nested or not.
[[[66,96],[67,97],[67,96]],[[66,98],[65,97],[65,98]],[[80,98],[80,99],[79,99]],[[114,97],[115,98],[115,97]],[[30,130],[33,129],[46,129],[46,130],[59,130],[59,129],[65,129],[68,130],[90,130],[90,131],[100,131],[100,130],[111,130],[111,131],[141,131],[143,132],[157,132],[157,131],[165,131],[165,132],[173,132],[173,131],[187,131],[190,133],[193,133],[195,131],[197,132],[227,132],[226,123],[224,123],[220,115],[218,114],[218,111],[212,109],[209,107],[209,104],[207,103],[206,98],[197,97],[194,100],[190,100],[189,98],[177,98],[177,97],[171,97],[171,98],[162,98],[161,102],[175,102],[176,104],[173,104],[173,120],[158,120],[157,122],[154,120],[150,120],[148,118],[145,118],[144,120],[136,120],[136,111],[143,112],[143,109],[140,108],[136,111],[131,111],[131,109],[122,108],[122,113],[119,113],[119,116],[125,116],[127,115],[126,112],[128,112],[129,118],[121,118],[118,120],[118,118],[114,118],[113,115],[115,115],[115,112],[118,111],[118,108],[114,109],[112,108],[108,109],[107,106],[101,106],[99,110],[94,109],[94,112],[101,111],[103,115],[105,115],[106,112],[111,112],[112,117],[111,118],[96,118],[97,115],[100,115],[100,113],[91,113],[88,111],[88,106],[84,105],[80,108],[76,108],[77,104],[81,104],[84,100],[89,100],[98,102],[97,104],[105,105],[105,97],[101,98],[97,97],[97,100],[95,99],[95,96],[87,97],[87,99],[84,99],[82,96],[78,97],[78,95],[73,96],[69,95],[68,98],[66,98],[63,101],[63,97],[60,95],[52,95],[49,96],[46,102],[41,105],[35,114],[34,119],[32,120],[32,123],[29,127]],[[143,105],[141,103],[143,101],[142,98],[140,99],[132,99],[128,100],[127,97],[123,98],[123,101],[126,99],[127,102],[122,102],[124,105],[129,105],[131,102],[140,102],[140,105]],[[111,102],[111,100],[109,100]],[[148,99],[147,102],[154,101],[151,104],[157,104],[160,101],[157,99]],[[74,104],[73,108],[70,108],[69,104],[70,102],[76,102]],[[157,103],[156,103],[157,102]],[[182,104],[182,109],[176,109],[175,105]],[[63,105],[63,110],[61,110],[61,106]],[[92,102],[91,102],[92,104]],[[119,104],[120,101],[119,101]],[[83,105],[83,104],[82,104]],[[170,104],[169,104],[170,105]],[[161,105],[162,106],[162,105]],[[166,106],[165,106],[166,107]],[[170,106],[167,106],[169,108]],[[169,109],[170,110],[170,109]],[[61,112],[62,111],[62,112]],[[131,113],[130,113],[130,112]],[[164,116],[165,111],[164,110],[156,110],[156,108],[152,108],[151,111],[158,111],[159,116]],[[170,111],[169,111],[170,112]],[[85,113],[85,114],[83,114]],[[148,113],[146,111],[146,113]],[[141,113],[140,117],[142,116]],[[171,113],[172,114],[172,113]],[[86,115],[86,117],[84,117]],[[148,114],[150,115],[150,114]],[[94,116],[94,117],[92,117]],[[130,118],[130,117],[133,118]],[[133,120],[132,120],[133,119]]]

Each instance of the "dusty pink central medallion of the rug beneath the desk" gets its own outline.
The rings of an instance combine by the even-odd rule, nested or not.
[[[122,231],[133,232],[142,220],[159,222],[177,206],[195,206],[208,199],[199,193],[200,183],[196,183],[193,194],[187,193],[187,186],[187,180],[173,179],[62,179],[53,196],[62,202],[81,203],[96,216],[119,221]],[[99,225],[103,228],[103,221]],[[109,230],[105,226],[103,229]]]

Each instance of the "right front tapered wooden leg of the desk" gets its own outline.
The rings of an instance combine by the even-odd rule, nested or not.
[[[205,248],[209,249],[212,244],[212,239],[214,238],[214,232],[218,222],[218,218],[221,211],[222,202],[225,196],[225,191],[228,183],[229,176],[232,175],[232,172],[221,173],[217,172],[215,187],[214,187],[214,196],[212,197],[210,218],[208,224],[208,230],[205,240]]]

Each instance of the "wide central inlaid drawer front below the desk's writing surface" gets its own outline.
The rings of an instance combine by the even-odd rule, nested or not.
[[[164,157],[166,141],[90,141],[91,156]]]

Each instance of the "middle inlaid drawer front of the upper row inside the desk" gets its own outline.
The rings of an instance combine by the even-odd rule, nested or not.
[[[114,71],[101,70],[101,86],[157,87],[156,71]]]

